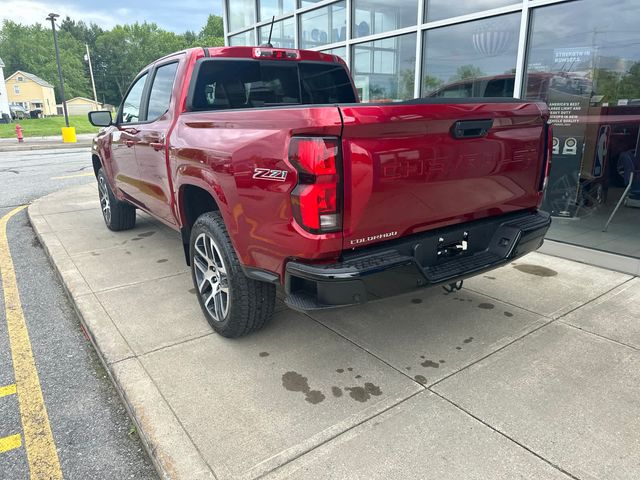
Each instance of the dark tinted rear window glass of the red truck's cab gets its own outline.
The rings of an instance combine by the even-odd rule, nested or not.
[[[342,65],[260,60],[204,61],[192,95],[199,111],[356,101]]]

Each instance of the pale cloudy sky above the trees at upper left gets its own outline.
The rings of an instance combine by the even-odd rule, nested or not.
[[[146,20],[175,33],[197,33],[209,14],[221,15],[222,0],[0,0],[0,22],[45,23],[51,12],[106,29]]]

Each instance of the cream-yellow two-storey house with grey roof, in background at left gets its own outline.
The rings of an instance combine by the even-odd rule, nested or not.
[[[56,115],[56,97],[53,85],[33,75],[18,70],[6,80],[9,103],[22,105],[26,110],[42,110],[43,115]]]

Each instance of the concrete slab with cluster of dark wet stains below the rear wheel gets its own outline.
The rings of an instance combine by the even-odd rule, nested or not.
[[[290,310],[141,360],[219,478],[269,471],[421,388]]]

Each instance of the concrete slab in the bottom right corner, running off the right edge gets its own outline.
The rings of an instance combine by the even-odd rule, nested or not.
[[[578,478],[640,478],[640,354],[562,323],[434,389]]]

